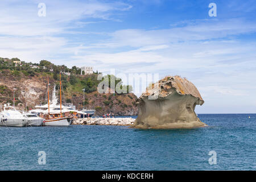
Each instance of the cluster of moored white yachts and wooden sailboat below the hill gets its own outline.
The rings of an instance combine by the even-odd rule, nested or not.
[[[56,85],[53,84],[52,100],[49,100],[49,80],[47,78],[48,104],[37,105],[35,109],[18,111],[14,106],[5,104],[0,113],[0,126],[69,126],[73,119],[88,118],[94,115],[95,110],[76,110],[71,105],[61,103],[61,73],[60,73],[60,104],[57,104]],[[15,98],[14,98],[15,101]]]

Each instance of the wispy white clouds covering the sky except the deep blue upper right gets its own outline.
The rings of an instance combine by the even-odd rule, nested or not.
[[[119,20],[113,14],[131,6],[45,1],[47,15],[40,18],[38,3],[1,2],[1,57],[54,60],[69,67],[92,65],[104,72],[115,68],[122,73],[181,75],[199,87],[205,104],[216,103],[214,100],[220,97],[238,97],[255,105],[256,46],[239,39],[240,35],[256,32],[255,22],[202,19],[162,30],[84,31],[80,28],[88,24]],[[80,39],[91,35],[93,38]]]

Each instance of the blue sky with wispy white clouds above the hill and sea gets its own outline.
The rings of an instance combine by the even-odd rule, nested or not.
[[[209,16],[210,3],[217,16]],[[179,75],[205,101],[196,113],[256,113],[254,0],[0,0],[0,7],[0,57],[114,69],[123,80]]]

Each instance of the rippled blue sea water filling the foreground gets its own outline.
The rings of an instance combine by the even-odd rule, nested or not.
[[[256,114],[199,114],[199,118],[209,126],[0,127],[0,170],[256,169]],[[45,165],[38,163],[39,151],[46,152]],[[209,151],[216,152],[216,164],[209,164]]]

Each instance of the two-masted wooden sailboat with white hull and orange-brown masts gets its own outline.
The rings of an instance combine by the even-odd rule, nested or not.
[[[60,73],[60,114],[51,114],[49,110],[49,78],[47,78],[48,90],[48,114],[44,114],[44,126],[69,126],[72,123],[72,117],[63,117],[61,111],[61,73]]]

